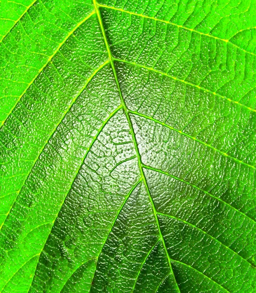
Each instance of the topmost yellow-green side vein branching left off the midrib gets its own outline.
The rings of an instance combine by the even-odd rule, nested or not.
[[[60,47],[68,40],[68,38],[75,32],[75,30],[77,30],[78,27],[81,26],[85,21],[87,21],[88,19],[90,19],[91,16],[94,13],[95,12],[92,11],[86,18],[84,18],[82,21],[80,21],[79,23],[77,23],[77,25],[73,28],[73,30],[70,31],[67,34],[67,36],[65,37],[65,39],[57,46],[57,48],[54,51],[53,55],[48,58],[47,62],[39,69],[39,71],[37,72],[37,74],[33,78],[33,80],[29,84],[27,84],[27,86],[24,89],[24,91],[21,93],[20,96],[18,96],[18,99],[17,99],[15,105],[11,108],[10,112],[7,114],[7,116],[5,117],[5,119],[0,122],[0,128],[3,126],[3,124],[5,123],[5,121],[8,119],[8,117],[10,116],[10,114],[12,113],[12,111],[14,110],[14,108],[16,107],[16,105],[18,104],[18,102],[20,101],[20,99],[24,96],[24,94],[26,93],[26,91],[28,90],[28,88],[31,86],[31,84],[33,84],[35,82],[35,80],[37,79],[38,75],[43,71],[43,69],[48,65],[48,63],[54,58],[54,56],[56,55],[56,53],[59,51]]]

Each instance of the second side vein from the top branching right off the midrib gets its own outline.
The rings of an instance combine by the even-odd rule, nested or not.
[[[171,78],[171,79],[173,79],[173,80],[175,80],[175,81],[177,81],[177,82],[180,82],[180,83],[183,83],[183,84],[187,84],[187,85],[190,85],[190,86],[196,87],[196,88],[198,88],[198,89],[200,89],[200,90],[202,90],[202,91],[204,91],[204,92],[210,93],[210,94],[212,94],[212,95],[214,95],[214,96],[217,96],[217,97],[219,97],[219,98],[222,98],[222,99],[224,99],[224,100],[227,100],[227,101],[230,102],[230,103],[237,104],[237,105],[239,105],[239,106],[241,106],[241,107],[245,107],[246,109],[248,109],[248,110],[250,110],[250,111],[252,111],[252,112],[256,112],[256,109],[253,109],[253,108],[251,108],[251,107],[248,107],[248,106],[246,106],[246,105],[243,105],[243,104],[241,104],[241,103],[239,103],[239,102],[237,102],[237,101],[231,100],[231,99],[229,99],[229,98],[227,98],[227,97],[225,97],[225,96],[221,96],[221,95],[219,95],[218,93],[213,92],[213,91],[210,91],[210,90],[207,89],[207,88],[204,88],[204,87],[201,87],[201,86],[199,86],[199,85],[196,85],[196,84],[192,84],[192,83],[186,82],[186,81],[184,81],[184,80],[181,80],[181,79],[179,79],[179,78],[177,78],[177,77],[175,77],[175,76],[169,75],[168,73],[165,73],[165,72],[159,71],[159,70],[157,70],[157,69],[155,69],[155,68],[148,67],[148,66],[145,66],[145,65],[142,65],[142,64],[138,64],[138,63],[135,63],[135,62],[129,62],[129,61],[122,60],[122,59],[117,59],[117,58],[113,58],[113,59],[114,59],[115,61],[117,61],[117,62],[127,63],[127,64],[130,64],[130,65],[133,65],[133,66],[141,67],[141,68],[144,68],[144,69],[146,69],[146,70],[153,71],[153,72],[155,72],[155,73],[158,73],[158,74],[164,75],[164,76],[169,77],[169,78]]]

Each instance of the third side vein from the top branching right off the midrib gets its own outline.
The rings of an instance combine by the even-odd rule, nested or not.
[[[134,115],[137,115],[137,116],[143,117],[143,118],[145,118],[145,119],[148,119],[148,120],[154,121],[155,123],[160,124],[160,125],[162,125],[162,126],[165,126],[165,127],[169,128],[169,129],[171,129],[171,130],[173,130],[173,131],[179,132],[180,134],[182,134],[182,135],[184,135],[184,136],[186,136],[186,137],[188,137],[188,138],[190,138],[190,139],[193,139],[194,141],[196,141],[196,142],[198,142],[198,143],[200,143],[200,144],[202,144],[202,145],[204,145],[204,146],[207,146],[207,147],[209,147],[209,148],[211,148],[211,149],[217,151],[217,152],[220,153],[222,156],[232,159],[233,161],[235,161],[235,162],[238,163],[238,164],[244,165],[244,166],[249,167],[249,168],[252,168],[252,169],[256,169],[255,166],[252,166],[252,165],[250,165],[250,164],[244,163],[243,161],[238,160],[237,158],[230,156],[229,154],[227,154],[227,153],[225,153],[225,152],[219,150],[218,148],[216,148],[216,147],[214,147],[214,146],[211,146],[211,145],[209,145],[209,144],[206,144],[205,142],[203,142],[203,141],[197,139],[196,137],[193,137],[193,136],[191,136],[191,135],[189,135],[189,134],[187,134],[187,133],[185,133],[185,132],[183,132],[183,131],[181,131],[181,130],[178,130],[178,129],[172,127],[172,126],[169,126],[169,125],[165,124],[164,122],[161,122],[161,121],[159,121],[159,120],[157,120],[157,119],[155,119],[155,118],[152,118],[152,117],[150,117],[150,116],[144,115],[144,114],[139,113],[139,112],[136,112],[136,111],[128,110],[128,112],[131,113],[131,114],[134,114]]]

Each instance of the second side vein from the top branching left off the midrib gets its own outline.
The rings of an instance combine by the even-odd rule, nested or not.
[[[1,231],[2,227],[3,227],[3,224],[5,223],[5,221],[6,221],[6,219],[7,219],[7,217],[8,217],[8,215],[9,215],[11,209],[12,209],[13,206],[14,206],[14,203],[16,202],[16,199],[17,199],[17,197],[18,197],[19,192],[20,192],[21,189],[23,188],[23,186],[24,186],[24,184],[25,184],[25,182],[26,182],[28,176],[30,175],[30,173],[31,173],[31,171],[32,171],[32,169],[33,169],[33,167],[34,167],[35,164],[37,163],[37,160],[38,160],[40,154],[41,154],[42,151],[44,150],[45,146],[48,144],[48,142],[49,142],[49,140],[51,139],[51,137],[54,135],[54,133],[55,133],[57,127],[58,127],[58,126],[60,125],[60,123],[63,121],[64,117],[65,117],[66,114],[69,112],[69,110],[71,109],[71,107],[72,107],[72,105],[74,104],[74,102],[76,101],[76,99],[81,95],[81,93],[84,91],[84,89],[86,88],[86,86],[90,83],[91,79],[92,79],[92,78],[93,78],[93,77],[94,77],[94,76],[95,76],[95,75],[96,75],[96,74],[97,74],[97,73],[98,73],[98,72],[99,72],[99,71],[100,71],[105,65],[107,65],[108,63],[109,63],[109,60],[107,60],[105,63],[103,63],[101,66],[99,66],[99,67],[98,67],[98,68],[92,73],[91,77],[87,80],[86,84],[81,88],[81,90],[79,91],[79,93],[73,98],[72,103],[71,103],[70,106],[67,108],[67,110],[64,112],[62,118],[59,120],[58,124],[55,126],[55,128],[53,129],[53,131],[50,133],[48,139],[45,141],[44,145],[43,145],[43,146],[41,147],[41,149],[39,150],[39,152],[38,152],[38,154],[37,154],[37,157],[35,158],[35,160],[34,160],[32,166],[31,166],[31,168],[30,168],[30,170],[29,170],[29,172],[28,172],[28,174],[27,174],[27,176],[25,177],[25,179],[24,179],[24,181],[23,181],[23,183],[22,183],[22,185],[21,185],[21,188],[19,188],[19,190],[16,191],[16,192],[17,192],[17,195],[16,195],[16,197],[15,197],[15,200],[14,200],[14,202],[13,202],[11,208],[10,208],[9,211],[6,213],[6,218],[5,218],[5,220],[2,222],[2,224],[1,224],[1,226],[0,226],[0,231]]]

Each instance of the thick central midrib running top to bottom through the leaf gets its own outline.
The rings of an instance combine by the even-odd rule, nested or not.
[[[170,271],[171,271],[171,273],[173,275],[173,278],[175,280],[177,289],[180,292],[180,288],[178,286],[178,283],[176,281],[176,278],[175,278],[175,275],[174,275],[174,272],[173,272],[173,269],[172,269],[171,259],[170,259],[169,253],[168,253],[166,245],[165,245],[165,239],[163,237],[163,234],[162,234],[162,231],[161,231],[161,228],[160,228],[160,223],[159,223],[157,211],[156,211],[156,208],[155,208],[155,204],[153,202],[152,196],[150,194],[149,187],[147,185],[146,176],[145,176],[145,173],[144,173],[144,170],[143,170],[143,164],[142,164],[142,160],[141,160],[141,155],[140,155],[140,152],[139,152],[139,147],[138,147],[138,144],[137,144],[137,140],[136,140],[135,132],[134,132],[134,129],[133,129],[132,121],[131,121],[131,118],[130,118],[129,113],[128,113],[128,107],[126,105],[125,99],[124,99],[124,97],[122,95],[121,87],[120,87],[119,80],[117,78],[116,69],[115,69],[114,58],[113,58],[111,50],[110,50],[110,45],[109,45],[109,42],[108,42],[108,39],[107,39],[107,36],[106,36],[105,28],[104,28],[104,25],[103,25],[103,21],[102,21],[101,14],[100,14],[100,11],[99,11],[98,3],[97,3],[96,0],[93,0],[93,5],[94,5],[94,9],[95,9],[95,12],[96,12],[96,15],[97,15],[97,18],[98,18],[98,21],[99,21],[99,25],[100,25],[100,28],[101,28],[101,31],[102,31],[103,39],[104,39],[104,42],[105,42],[105,45],[106,45],[106,48],[107,48],[107,51],[108,51],[110,64],[111,64],[112,71],[113,71],[113,74],[114,74],[114,78],[115,78],[115,82],[116,82],[117,89],[118,89],[118,92],[119,92],[120,100],[121,100],[121,103],[123,105],[123,109],[124,109],[124,112],[125,112],[125,115],[126,115],[126,118],[127,118],[127,121],[128,121],[128,125],[129,125],[129,128],[130,128],[132,140],[133,140],[135,151],[136,151],[136,154],[137,154],[138,165],[139,165],[142,181],[143,181],[143,183],[145,185],[146,192],[148,194],[150,203],[152,205],[152,209],[153,209],[153,213],[154,213],[154,216],[155,216],[155,219],[156,219],[156,224],[157,224],[157,228],[158,228],[158,231],[159,231],[160,239],[161,239],[161,241],[163,243],[165,253],[166,253],[166,257],[167,257],[167,260],[168,260],[168,264],[170,266]]]

